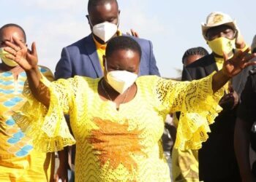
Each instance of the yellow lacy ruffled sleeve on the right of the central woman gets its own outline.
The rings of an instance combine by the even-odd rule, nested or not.
[[[214,73],[192,82],[159,79],[157,95],[162,105],[170,108],[170,113],[181,111],[176,149],[200,149],[208,138],[207,132],[211,132],[209,124],[212,124],[222,111],[219,100],[224,89],[213,93],[211,82]]]

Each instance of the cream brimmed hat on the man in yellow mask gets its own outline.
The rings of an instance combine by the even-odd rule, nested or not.
[[[236,20],[233,20],[230,15],[227,15],[223,12],[211,12],[210,15],[206,18],[206,23],[202,23],[202,33],[204,39],[207,40],[206,33],[209,28],[213,28],[219,25],[228,25],[233,28],[234,31],[237,31]]]

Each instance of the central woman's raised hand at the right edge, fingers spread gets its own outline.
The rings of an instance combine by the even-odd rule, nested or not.
[[[241,50],[236,52],[232,58],[228,59],[227,54],[224,52],[224,63],[222,72],[225,76],[231,78],[239,74],[247,66],[256,65],[256,62],[249,62],[252,58],[256,57],[256,54],[249,54],[250,49],[248,48],[244,52]]]

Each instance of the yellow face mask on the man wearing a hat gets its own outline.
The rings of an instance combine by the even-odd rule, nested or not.
[[[223,52],[229,55],[230,52],[233,51],[233,48],[235,47],[236,44],[236,39],[230,40],[225,37],[219,37],[212,41],[207,41],[207,43],[214,53],[223,56]]]

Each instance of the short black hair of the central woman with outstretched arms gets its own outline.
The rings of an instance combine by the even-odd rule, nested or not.
[[[109,58],[116,50],[132,50],[137,52],[141,58],[140,45],[129,36],[116,36],[110,39],[106,47],[106,58]]]

